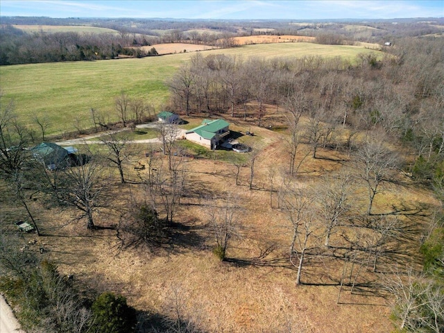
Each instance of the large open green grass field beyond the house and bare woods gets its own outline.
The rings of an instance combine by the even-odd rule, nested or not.
[[[233,49],[203,51],[203,55],[238,55],[244,59],[341,56],[353,60],[359,53],[382,53],[359,46],[333,46],[311,43],[255,44]],[[165,81],[194,53],[142,59],[100,60],[94,62],[53,62],[0,67],[0,88],[6,102],[12,99],[19,117],[28,124],[33,117],[47,117],[47,134],[74,130],[80,123],[92,127],[90,109],[109,114],[116,120],[114,98],[122,91],[141,98],[155,112],[169,98]],[[2,102],[3,103],[3,102]]]

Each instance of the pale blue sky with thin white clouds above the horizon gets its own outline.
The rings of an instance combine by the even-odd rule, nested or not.
[[[444,0],[0,0],[1,16],[173,19],[444,17]]]

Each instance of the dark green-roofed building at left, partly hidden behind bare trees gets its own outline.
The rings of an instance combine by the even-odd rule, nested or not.
[[[74,147],[63,148],[52,142],[42,142],[31,148],[31,152],[37,160],[40,160],[49,169],[54,170],[67,167],[71,160],[76,160],[77,149]]]

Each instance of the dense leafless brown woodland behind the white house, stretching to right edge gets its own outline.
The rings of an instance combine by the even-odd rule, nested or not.
[[[292,128],[300,114],[309,116],[314,156],[317,146],[335,137],[335,128],[350,128],[351,136],[382,129],[416,152],[409,172],[430,179],[444,149],[442,48],[442,40],[407,39],[384,58],[361,55],[355,65],[317,56],[263,60],[197,54],[167,85],[173,108],[187,115],[254,117],[257,126],[272,126],[264,117],[266,105],[274,105],[289,111]]]

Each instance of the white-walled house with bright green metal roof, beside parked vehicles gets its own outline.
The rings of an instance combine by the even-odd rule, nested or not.
[[[185,133],[187,140],[213,149],[230,135],[230,123],[223,119],[204,119],[202,125]]]

